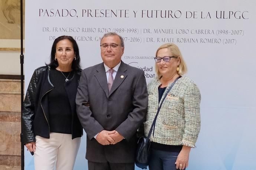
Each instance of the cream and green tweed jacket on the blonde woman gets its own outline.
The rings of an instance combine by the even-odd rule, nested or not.
[[[158,78],[154,78],[148,84],[148,113],[144,122],[145,135],[148,135],[157,113],[160,84]],[[170,86],[171,83],[168,84],[163,97]],[[200,101],[201,95],[197,85],[188,77],[178,79],[161,106],[155,124],[154,136],[152,133],[150,141],[195,147],[201,123]]]

